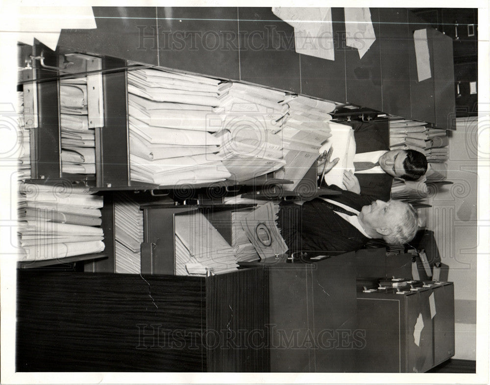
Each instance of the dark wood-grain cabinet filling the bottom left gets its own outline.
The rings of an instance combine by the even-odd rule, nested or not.
[[[267,372],[268,284],[261,268],[211,277],[19,271],[16,369]]]

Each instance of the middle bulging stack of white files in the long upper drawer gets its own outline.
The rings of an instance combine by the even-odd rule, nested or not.
[[[284,166],[277,133],[288,112],[288,106],[280,103],[285,93],[236,82],[221,84],[219,92],[220,103],[214,111],[220,116],[221,131],[215,136],[231,178],[247,181]]]

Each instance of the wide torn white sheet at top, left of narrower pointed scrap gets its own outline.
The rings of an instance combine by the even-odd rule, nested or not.
[[[335,59],[331,8],[272,7],[272,12],[294,27],[296,52]]]

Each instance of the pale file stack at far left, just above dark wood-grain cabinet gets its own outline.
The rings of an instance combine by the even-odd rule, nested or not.
[[[21,261],[57,259],[103,251],[100,207],[88,188],[21,183],[19,186]]]

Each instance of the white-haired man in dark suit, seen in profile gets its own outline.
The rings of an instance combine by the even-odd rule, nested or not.
[[[302,205],[281,204],[278,227],[291,252],[347,252],[361,249],[369,239],[401,245],[415,237],[417,213],[411,204],[396,200],[365,204],[359,194],[335,185],[329,188],[341,194]]]

